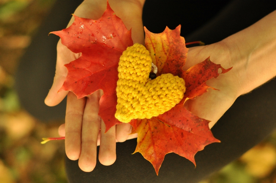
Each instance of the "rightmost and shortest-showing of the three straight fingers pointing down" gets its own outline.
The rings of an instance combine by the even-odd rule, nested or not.
[[[116,160],[116,127],[112,126],[106,133],[106,125],[101,120],[101,145],[99,161],[103,165],[112,165]]]

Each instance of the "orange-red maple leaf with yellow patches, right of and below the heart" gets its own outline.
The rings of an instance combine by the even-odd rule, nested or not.
[[[166,27],[160,34],[154,34],[145,28],[145,47],[158,67],[158,75],[172,73],[182,77],[186,87],[184,98],[169,111],[151,119],[137,120],[136,124],[132,122],[138,133],[135,153],[140,152],[150,161],[158,175],[167,153],[177,153],[196,165],[194,156],[198,151],[210,143],[220,142],[209,129],[210,121],[185,109],[184,102],[205,93],[209,87],[206,81],[216,78],[219,68],[222,69],[222,73],[228,72],[231,68],[225,70],[207,58],[184,71],[182,68],[188,49],[185,39],[180,36],[180,25],[175,30]]]

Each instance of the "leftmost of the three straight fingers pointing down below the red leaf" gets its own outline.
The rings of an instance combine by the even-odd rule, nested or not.
[[[81,127],[86,98],[77,99],[69,92],[65,116],[65,152],[69,159],[76,160],[81,153]]]

